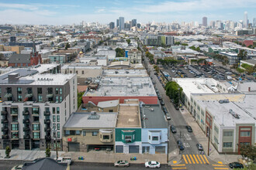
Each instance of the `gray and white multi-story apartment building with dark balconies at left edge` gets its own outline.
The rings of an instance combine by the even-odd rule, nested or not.
[[[54,146],[54,135],[61,149],[62,127],[77,110],[77,79],[50,70],[56,74],[38,66],[0,76],[0,149],[44,150]]]

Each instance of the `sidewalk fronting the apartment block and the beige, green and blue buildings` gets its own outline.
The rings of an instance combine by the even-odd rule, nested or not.
[[[167,155],[164,154],[115,154],[106,151],[91,151],[91,152],[64,152],[58,151],[59,157],[71,156],[73,162],[102,162],[102,163],[114,163],[118,160],[126,160],[132,164],[144,164],[147,161],[157,161],[161,164],[167,164]],[[26,151],[26,150],[12,150],[10,154],[11,158],[5,158],[5,150],[0,150],[0,160],[24,160],[33,161],[36,158],[44,158],[45,151]],[[83,157],[84,160],[78,160],[79,157]],[[130,161],[131,157],[136,157],[137,160]],[[50,158],[56,158],[56,151],[51,151]]]

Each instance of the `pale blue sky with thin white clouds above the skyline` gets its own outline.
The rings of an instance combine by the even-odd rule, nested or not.
[[[256,18],[256,0],[0,0],[0,24],[64,25],[115,22],[202,23]]]

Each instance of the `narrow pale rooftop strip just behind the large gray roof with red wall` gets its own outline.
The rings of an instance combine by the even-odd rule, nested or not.
[[[103,70],[102,76],[148,76],[147,70]]]

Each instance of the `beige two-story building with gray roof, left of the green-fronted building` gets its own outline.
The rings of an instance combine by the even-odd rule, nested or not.
[[[73,113],[64,124],[63,151],[113,151],[116,112]]]

